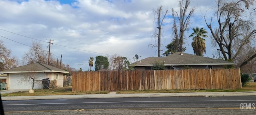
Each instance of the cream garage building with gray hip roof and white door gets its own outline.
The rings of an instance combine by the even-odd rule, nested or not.
[[[63,87],[64,73],[68,73],[68,71],[39,62],[0,71],[0,74],[6,74],[7,89],[31,89],[32,80],[27,82],[21,80],[26,75],[33,75],[36,77],[35,80],[38,82],[35,83],[34,89],[41,89],[41,80],[46,78],[50,78],[49,80],[56,79],[57,86]]]

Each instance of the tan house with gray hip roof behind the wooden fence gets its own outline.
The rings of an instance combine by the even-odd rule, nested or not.
[[[156,62],[164,63],[166,70],[180,70],[184,69],[184,67],[190,67],[193,69],[223,69],[224,65],[234,65],[232,62],[221,59],[175,52],[165,57],[148,57],[132,63],[129,66],[134,67],[135,70],[148,70],[152,69]]]

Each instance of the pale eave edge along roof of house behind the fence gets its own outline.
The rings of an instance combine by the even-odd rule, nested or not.
[[[177,65],[234,65],[234,63],[188,63],[188,64],[164,64],[164,66],[177,66]],[[144,65],[129,65],[129,66],[154,66],[153,64]]]

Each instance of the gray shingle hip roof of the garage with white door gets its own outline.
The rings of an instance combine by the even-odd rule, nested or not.
[[[4,71],[0,71],[0,73],[28,73],[28,72],[57,72],[57,73],[68,73],[68,71],[52,67],[50,65],[46,65],[43,63],[32,63],[28,65],[23,65],[20,67],[14,67],[12,69],[6,69]]]

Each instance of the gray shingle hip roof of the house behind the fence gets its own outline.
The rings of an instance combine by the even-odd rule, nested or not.
[[[181,55],[180,52],[176,52],[174,54],[170,54],[166,57],[148,57],[142,59],[138,62],[130,64],[133,66],[153,66],[152,63],[158,61],[162,63],[164,61],[164,65],[234,65],[234,63],[229,61],[224,61],[221,59],[213,59],[210,57],[196,56],[192,54],[183,53]]]

